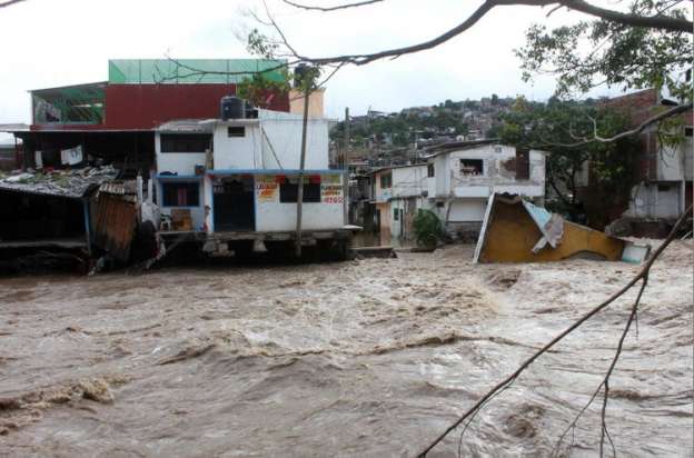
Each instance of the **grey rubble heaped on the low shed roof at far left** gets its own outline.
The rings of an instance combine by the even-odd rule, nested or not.
[[[0,190],[23,191],[50,196],[82,197],[96,185],[116,178],[113,166],[85,167],[52,171],[0,172]]]

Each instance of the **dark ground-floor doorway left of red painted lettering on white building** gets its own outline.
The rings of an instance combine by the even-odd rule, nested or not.
[[[254,177],[234,175],[215,178],[212,192],[215,231],[256,230]]]

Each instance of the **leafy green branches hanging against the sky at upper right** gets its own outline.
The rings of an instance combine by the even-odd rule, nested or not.
[[[691,17],[688,1],[635,0],[629,12],[641,17]],[[526,43],[516,50],[523,78],[549,73],[557,77],[556,93],[567,98],[599,84],[627,89],[663,88],[683,101],[692,101],[692,86],[684,72],[692,68],[691,32],[638,28],[606,19],[582,20],[547,30],[535,24]]]

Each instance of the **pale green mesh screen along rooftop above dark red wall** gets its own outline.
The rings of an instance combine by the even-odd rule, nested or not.
[[[252,73],[284,81],[278,67],[285,60],[274,59],[112,59],[109,60],[109,83],[238,83]]]

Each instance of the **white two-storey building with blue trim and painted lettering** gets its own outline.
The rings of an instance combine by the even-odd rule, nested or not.
[[[160,126],[155,143],[161,213],[189,217],[184,230],[216,239],[290,238],[279,232],[296,230],[301,121],[299,114],[260,109],[254,119]],[[344,229],[345,186],[344,171],[328,169],[328,120],[310,118],[304,230]]]

